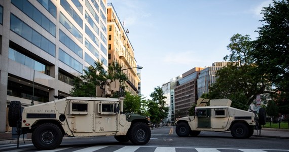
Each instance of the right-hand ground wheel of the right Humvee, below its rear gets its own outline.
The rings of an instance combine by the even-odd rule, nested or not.
[[[231,134],[234,138],[247,138],[249,135],[249,128],[243,123],[233,124]]]

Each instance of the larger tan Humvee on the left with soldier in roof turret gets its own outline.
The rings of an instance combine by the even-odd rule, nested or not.
[[[123,97],[107,98],[118,89],[107,80],[96,89],[102,97],[66,97],[24,107],[22,113],[21,103],[11,101],[9,125],[17,127],[18,144],[21,134],[32,133],[32,143],[38,149],[56,148],[64,135],[114,136],[120,142],[146,144],[151,138],[150,121],[135,113],[123,113]]]

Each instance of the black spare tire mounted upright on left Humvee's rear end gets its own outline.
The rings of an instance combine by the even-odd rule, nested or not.
[[[8,122],[10,127],[17,127],[17,122],[21,120],[21,102],[11,101],[8,110]]]

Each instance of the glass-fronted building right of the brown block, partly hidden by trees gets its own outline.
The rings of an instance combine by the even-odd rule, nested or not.
[[[197,80],[198,97],[201,97],[203,93],[208,93],[209,88],[215,83],[217,77],[216,72],[222,67],[227,66],[232,62],[214,62],[212,66],[205,67],[200,71],[199,78]]]

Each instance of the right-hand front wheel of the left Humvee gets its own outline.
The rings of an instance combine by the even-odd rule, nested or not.
[[[128,137],[133,144],[146,144],[151,139],[151,129],[145,123],[134,123],[129,129]]]

